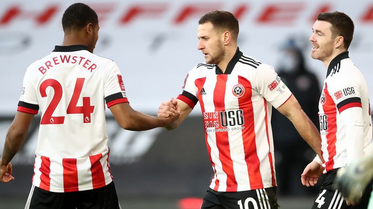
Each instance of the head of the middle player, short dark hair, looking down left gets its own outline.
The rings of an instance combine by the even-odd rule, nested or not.
[[[205,55],[206,63],[218,64],[225,56],[226,46],[237,48],[238,20],[230,12],[213,11],[198,21],[198,49]]]

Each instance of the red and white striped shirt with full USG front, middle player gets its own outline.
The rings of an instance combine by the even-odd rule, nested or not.
[[[238,48],[224,74],[210,64],[189,71],[178,99],[192,108],[201,104],[215,173],[211,189],[237,192],[276,186],[271,107],[290,96],[271,66]]]

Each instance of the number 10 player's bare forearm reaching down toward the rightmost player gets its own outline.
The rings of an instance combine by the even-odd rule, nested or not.
[[[316,129],[312,121],[307,117],[303,110],[300,110],[298,114],[293,114],[289,117],[294,127],[308,145],[319,155],[321,155],[321,136],[319,131]]]

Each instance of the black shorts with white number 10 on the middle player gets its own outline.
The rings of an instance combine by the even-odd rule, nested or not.
[[[201,209],[278,209],[276,187],[242,192],[209,189]]]

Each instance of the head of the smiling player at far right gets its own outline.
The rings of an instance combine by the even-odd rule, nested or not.
[[[342,12],[320,13],[312,30],[311,57],[324,61],[334,58],[336,52],[348,50],[354,35],[354,22]]]

